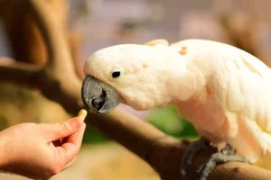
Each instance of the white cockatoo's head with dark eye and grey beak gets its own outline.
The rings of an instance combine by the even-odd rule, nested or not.
[[[144,45],[121,44],[100,49],[87,58],[82,100],[90,112],[111,112],[118,103],[145,110],[169,103],[168,78],[180,54],[166,40]]]

